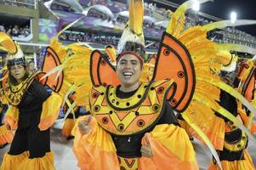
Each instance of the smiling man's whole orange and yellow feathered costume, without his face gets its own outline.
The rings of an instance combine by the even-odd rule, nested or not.
[[[120,92],[113,48],[105,49],[110,61],[99,50],[79,42],[64,47],[58,42],[59,35],[77,20],[52,39],[47,57],[60,58],[60,65],[45,77],[65,72],[63,84],[69,89],[65,90],[64,100],[73,94],[70,108],[86,105],[92,114],[77,120],[88,122],[88,133],[81,133],[78,123],[73,129],[73,150],[82,170],[198,169],[191,142],[185,130],[177,125],[173,110],[182,113],[220,165],[213,146],[223,142],[224,137],[214,133],[216,129],[203,126],[213,118],[214,111],[234,120],[216,102],[219,89],[235,94],[250,111],[254,109],[219,78],[221,66],[231,59],[230,49],[236,47],[207,39],[208,31],[229,26],[230,22],[219,21],[185,30],[185,10],[192,4],[192,1],[183,3],[172,14],[156,58],[144,64],[141,84],[132,93]],[[133,54],[143,64],[143,5],[143,1],[130,0],[129,21],[117,46],[117,60],[123,54]],[[239,122],[234,123],[246,130]],[[141,146],[147,145],[151,146],[152,157],[140,155]]]

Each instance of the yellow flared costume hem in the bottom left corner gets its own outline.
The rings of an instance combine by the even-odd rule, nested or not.
[[[8,153],[5,153],[0,170],[21,170],[20,164],[22,161],[28,159],[28,157],[28,151],[25,151],[17,156],[11,156]]]

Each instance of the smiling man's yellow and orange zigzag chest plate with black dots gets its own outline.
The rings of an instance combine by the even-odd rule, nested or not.
[[[120,99],[113,86],[93,88],[91,112],[106,131],[117,135],[140,133],[160,118],[168,91],[175,90],[169,80],[142,83],[136,93]]]

